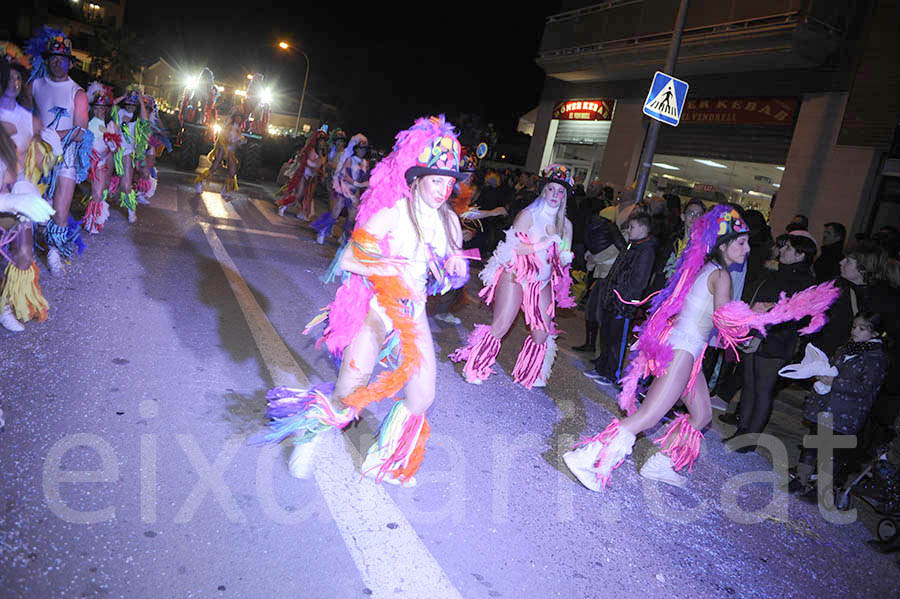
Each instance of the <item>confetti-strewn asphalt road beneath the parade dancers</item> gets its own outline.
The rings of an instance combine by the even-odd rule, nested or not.
[[[896,596],[862,511],[833,523],[798,503],[719,424],[687,489],[638,476],[648,437],[604,493],[577,484],[559,456],[614,401],[565,349],[545,389],[514,385],[521,321],[498,374],[467,385],[445,356],[490,319],[477,279],[461,326],[432,321],[419,485],[360,478],[388,405],[328,439],[314,479],[291,478],[287,443],[245,441],[268,388],[336,376],[301,334],[334,293],[318,277],[336,245],[279,218],[262,187],[230,204],[191,187],[162,169],[137,224],[114,211],[64,278],[42,264],[48,321],[0,330],[0,596]],[[579,313],[559,324],[562,348],[581,342]],[[792,456],[797,422],[779,402],[769,432]]]

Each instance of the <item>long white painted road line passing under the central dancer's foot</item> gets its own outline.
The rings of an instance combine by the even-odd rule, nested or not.
[[[309,379],[250,292],[209,223],[200,223],[275,385],[308,387]],[[350,556],[374,597],[460,598],[459,591],[390,495],[360,480],[356,448],[341,435],[323,435],[315,477]],[[390,527],[388,526],[390,525]]]

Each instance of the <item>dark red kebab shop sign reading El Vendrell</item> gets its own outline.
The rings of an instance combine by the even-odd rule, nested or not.
[[[793,125],[797,98],[709,98],[688,100],[682,123]]]

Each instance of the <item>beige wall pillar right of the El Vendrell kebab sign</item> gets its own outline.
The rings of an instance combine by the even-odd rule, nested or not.
[[[776,235],[795,214],[809,218],[810,232],[817,238],[826,222],[843,223],[850,237],[865,226],[859,221],[868,212],[866,204],[881,153],[836,145],[847,96],[804,96],[770,217]]]

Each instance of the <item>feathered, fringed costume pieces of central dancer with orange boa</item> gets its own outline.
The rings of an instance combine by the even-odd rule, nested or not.
[[[391,239],[378,238],[364,226],[380,210],[394,209],[401,198],[412,201],[407,177],[416,168],[424,174],[458,176],[458,148],[452,126],[443,116],[419,119],[411,129],[399,133],[391,154],[372,173],[372,186],[363,195],[357,227],[344,251],[352,251],[365,265],[402,267],[408,264],[405,256],[392,255]],[[426,291],[445,293],[465,285],[468,273],[451,276],[444,267],[446,260],[456,254],[448,251],[447,256],[440,256],[430,245],[428,248],[431,278]],[[350,368],[354,368],[353,356],[344,352],[361,332],[370,309],[376,307],[376,312],[380,311],[391,323],[392,330],[378,356],[389,370],[344,397],[343,410],[336,410],[331,404],[332,383],[309,389],[278,387],[269,391],[267,414],[272,420],[269,432],[251,442],[276,443],[293,435],[295,443],[308,443],[322,432],[346,427],[370,403],[389,397],[396,399],[423,358],[417,343],[415,317],[424,311],[424,301],[419,291],[407,287],[403,277],[344,272],[334,301],[307,325],[304,333],[324,323],[325,331],[317,346],[324,343],[336,360],[349,359]],[[425,454],[429,434],[425,414],[413,414],[405,402],[395,401],[382,421],[377,442],[369,450],[364,474],[374,475],[378,482],[412,482]]]

